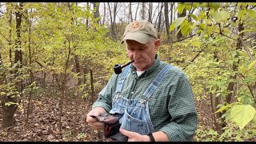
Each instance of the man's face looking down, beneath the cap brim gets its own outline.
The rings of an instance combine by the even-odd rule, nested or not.
[[[150,40],[146,44],[134,40],[126,40],[126,51],[137,71],[143,71],[154,65],[155,51],[160,45],[160,40]]]

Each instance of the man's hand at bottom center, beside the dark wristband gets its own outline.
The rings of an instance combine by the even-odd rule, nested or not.
[[[132,131],[119,129],[120,133],[128,137],[128,142],[150,142],[150,138],[147,135],[138,134]]]

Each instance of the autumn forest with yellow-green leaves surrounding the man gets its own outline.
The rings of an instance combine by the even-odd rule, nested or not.
[[[0,142],[106,141],[86,114],[138,19],[190,79],[193,141],[255,142],[256,2],[0,2]]]

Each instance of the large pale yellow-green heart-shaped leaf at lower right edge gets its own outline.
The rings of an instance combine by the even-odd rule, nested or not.
[[[256,110],[250,105],[236,105],[231,110],[231,118],[237,123],[240,130],[254,118],[255,114]]]

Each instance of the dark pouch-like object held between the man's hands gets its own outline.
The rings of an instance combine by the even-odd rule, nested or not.
[[[100,116],[90,115],[90,117],[97,118],[99,122],[104,123],[104,134],[109,141],[128,141],[128,138],[119,132],[121,123],[119,123],[119,118],[117,116],[105,113]]]

